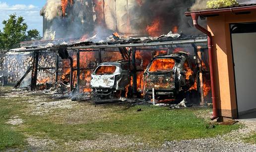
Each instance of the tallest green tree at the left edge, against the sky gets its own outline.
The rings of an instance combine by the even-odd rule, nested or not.
[[[27,24],[24,23],[22,16],[17,17],[16,14],[10,14],[9,19],[3,20],[3,32],[1,33],[1,42],[3,49],[18,48],[19,43],[26,39]]]

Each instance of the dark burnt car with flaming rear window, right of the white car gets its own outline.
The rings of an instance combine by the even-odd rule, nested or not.
[[[181,101],[181,96],[195,83],[195,61],[186,52],[157,56],[144,72],[144,95],[150,100],[154,88],[155,96]]]

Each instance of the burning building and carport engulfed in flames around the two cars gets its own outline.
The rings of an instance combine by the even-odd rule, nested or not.
[[[192,4],[193,0],[173,0],[171,4],[170,0],[47,0],[41,10],[46,40],[23,42],[13,50],[26,52],[30,58],[26,70],[15,75],[15,87],[31,75],[27,80],[31,90],[62,82],[69,91],[91,92],[95,90],[90,83],[92,74],[99,65],[126,62],[128,81],[121,87],[123,96],[143,98],[149,86],[144,72],[151,60],[183,51],[194,62],[194,66],[182,65],[186,77],[195,76],[186,92],[195,91],[193,95],[199,96],[200,91],[203,101],[210,90],[207,39],[183,16]]]

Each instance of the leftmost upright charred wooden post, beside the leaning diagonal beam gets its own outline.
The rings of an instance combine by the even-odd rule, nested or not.
[[[31,77],[31,91],[35,90],[36,88],[38,60],[39,60],[39,52],[34,51],[33,69],[32,69],[32,77]]]

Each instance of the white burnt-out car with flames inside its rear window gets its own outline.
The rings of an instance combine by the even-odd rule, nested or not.
[[[91,89],[96,95],[106,97],[126,90],[129,84],[128,64],[104,62],[91,75]]]

